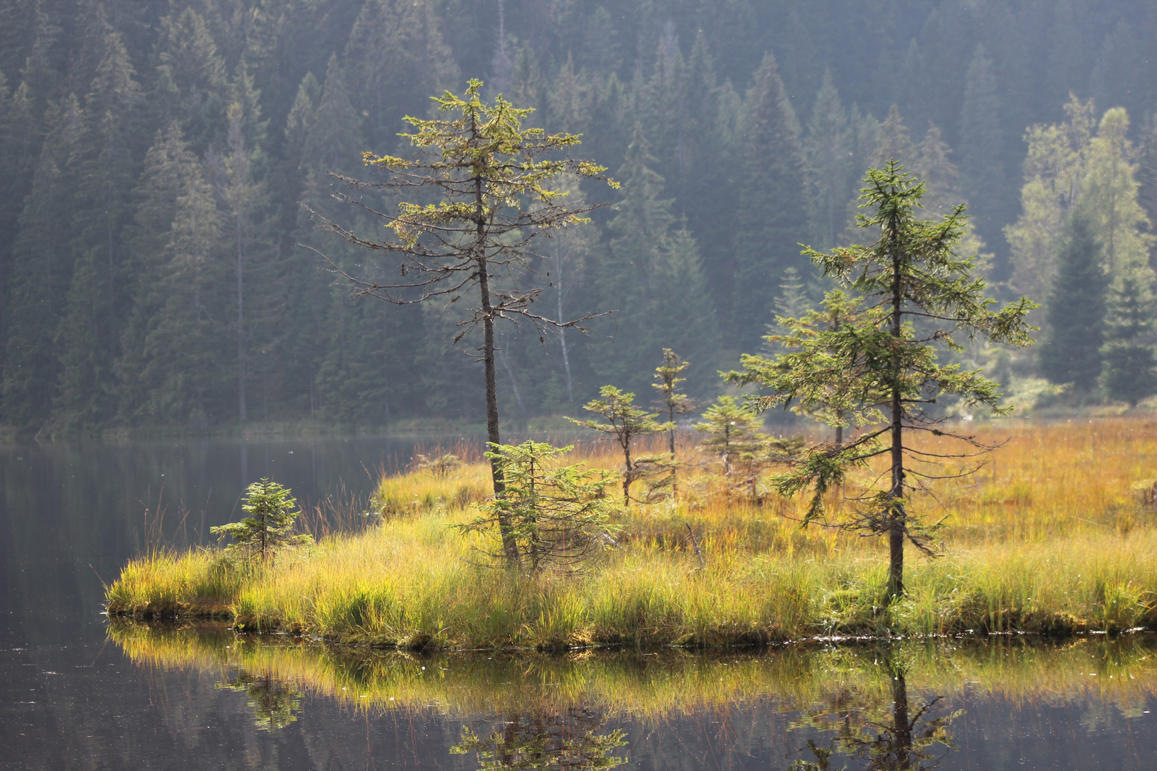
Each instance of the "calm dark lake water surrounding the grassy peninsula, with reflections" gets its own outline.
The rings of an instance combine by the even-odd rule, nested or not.
[[[0,448],[0,768],[1157,766],[1147,636],[414,657],[100,615],[98,576],[143,543],[146,509],[154,525],[165,509],[168,539],[196,541],[259,476],[302,502],[364,495],[366,469],[411,451]]]

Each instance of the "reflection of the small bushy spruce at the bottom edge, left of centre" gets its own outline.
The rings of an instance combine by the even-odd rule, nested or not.
[[[474,754],[479,768],[487,771],[613,769],[627,762],[610,756],[626,744],[626,733],[621,728],[599,733],[605,725],[602,712],[582,706],[499,716],[498,729],[486,737],[463,728],[462,741],[450,751]]]

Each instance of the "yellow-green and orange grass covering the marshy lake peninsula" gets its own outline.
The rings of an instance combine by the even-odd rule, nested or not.
[[[109,587],[113,614],[220,613],[256,630],[407,648],[709,646],[817,635],[1071,633],[1157,627],[1151,488],[1157,425],[1018,425],[972,477],[914,502],[944,518],[943,556],[911,558],[908,596],[885,602],[885,549],[823,527],[766,479],[722,480],[688,450],[679,498],[633,506],[619,546],[584,574],[515,576],[479,565],[473,517],[489,469],[469,462],[388,477],[382,521],[229,568],[214,550],[157,553]],[[929,452],[942,450],[929,437]],[[613,467],[606,445],[575,453]],[[737,472],[738,473],[738,472]],[[871,482],[867,474],[849,488]],[[832,501],[838,506],[837,501]],[[701,568],[687,532],[706,556]]]

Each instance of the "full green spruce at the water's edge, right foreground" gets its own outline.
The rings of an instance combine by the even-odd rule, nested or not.
[[[979,370],[937,363],[937,350],[960,351],[958,339],[977,338],[1016,347],[1032,344],[1025,321],[1036,305],[1025,298],[994,311],[985,297],[985,280],[973,275],[975,258],[956,254],[964,235],[964,205],[946,217],[922,221],[916,209],[924,185],[894,160],[885,169],[869,169],[857,223],[871,232],[868,246],[847,246],[825,254],[804,253],[825,276],[860,298],[863,311],[840,325],[813,327],[794,341],[789,354],[762,365],[751,364],[738,379],[759,383],[767,392],[761,408],[797,403],[815,415],[840,416],[872,428],[842,444],[819,444],[802,453],[788,472],[776,477],[781,495],[809,490],[804,524],[826,519],[824,496],[842,484],[853,468],[878,455],[889,455],[891,479],[884,489],[856,496],[841,527],[865,535],[887,535],[889,594],[904,594],[904,546],[911,542],[931,554],[930,528],[908,510],[909,494],[934,475],[914,461],[951,462],[990,451],[972,437],[945,431],[938,406],[948,398],[964,406],[1001,408],[998,384]],[[790,335],[789,335],[790,338]],[[913,431],[928,431],[964,440],[960,454],[930,457],[905,443]]]

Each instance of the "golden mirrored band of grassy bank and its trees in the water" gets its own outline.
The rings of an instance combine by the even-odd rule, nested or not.
[[[218,625],[117,621],[109,635],[143,667],[218,673],[278,728],[301,695],[369,713],[430,711],[478,726],[451,750],[481,768],[613,768],[625,717],[658,724],[765,700],[791,713],[795,768],[928,768],[950,751],[949,706],[965,692],[1014,704],[1096,698],[1123,714],[1157,694],[1149,635],[797,644],[756,651],[583,650],[436,653],[324,646]],[[482,722],[478,724],[481,719]],[[849,766],[850,768],[850,766]]]

